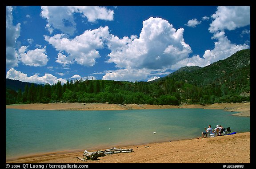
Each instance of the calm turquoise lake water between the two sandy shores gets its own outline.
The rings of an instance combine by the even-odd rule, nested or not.
[[[201,137],[208,124],[250,131],[250,117],[204,109],[6,109],[6,158],[67,150],[92,150]],[[153,134],[156,132],[156,134]]]

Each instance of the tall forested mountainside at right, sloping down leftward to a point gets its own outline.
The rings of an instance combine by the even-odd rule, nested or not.
[[[163,81],[173,79],[200,87],[220,86],[227,90],[240,92],[250,91],[250,49],[241,50],[227,59],[212,63],[206,67],[181,67],[168,76],[157,79]],[[247,89],[246,89],[247,88]],[[224,93],[226,93],[223,90]],[[226,93],[227,94],[227,93]]]

